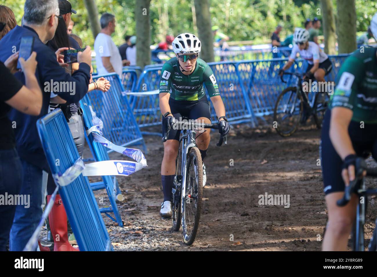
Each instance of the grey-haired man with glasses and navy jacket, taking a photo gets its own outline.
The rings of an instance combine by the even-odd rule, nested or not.
[[[75,84],[75,92],[55,92],[65,101],[75,103],[88,91],[90,78],[91,51],[78,53],[79,69],[72,74],[65,72],[57,62],[57,55],[45,44],[54,37],[58,18],[57,0],[26,0],[24,5],[24,26],[16,26],[0,40],[0,61],[5,61],[11,54],[13,46],[18,50],[22,37],[33,36],[33,51],[37,53],[36,78],[43,91],[43,105],[39,116],[30,116],[12,109],[9,119],[17,122],[14,129],[16,148],[20,156],[23,172],[20,194],[30,195],[30,207],[18,205],[9,236],[11,251],[22,251],[37,228],[42,216],[42,171],[48,171],[48,164],[36,128],[37,120],[47,114],[51,88],[45,83],[68,82]],[[14,75],[25,83],[25,72]]]

